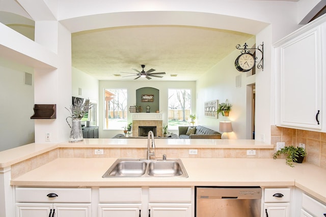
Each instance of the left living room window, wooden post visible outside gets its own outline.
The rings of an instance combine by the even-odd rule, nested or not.
[[[104,129],[127,125],[127,89],[104,89]]]

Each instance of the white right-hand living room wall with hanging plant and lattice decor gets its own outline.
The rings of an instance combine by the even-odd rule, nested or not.
[[[255,44],[255,38],[247,42],[251,47]],[[241,45],[242,46],[242,45]],[[235,45],[234,45],[235,47]],[[233,133],[229,133],[230,139],[246,139],[246,95],[247,95],[247,73],[240,73],[234,67],[234,61],[240,54],[239,50],[234,50],[226,56],[219,64],[205,73],[197,81],[197,122],[200,125],[212,130],[219,131],[219,122],[229,120],[232,122]],[[241,75],[241,87],[235,87],[235,77]],[[232,104],[232,111],[229,117],[219,115],[219,118],[204,116],[204,103],[211,100],[219,100],[219,103],[228,100]],[[250,139],[250,138],[249,138]]]

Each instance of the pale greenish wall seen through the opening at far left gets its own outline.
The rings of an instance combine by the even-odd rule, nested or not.
[[[34,142],[34,85],[25,85],[32,68],[0,58],[0,151]]]

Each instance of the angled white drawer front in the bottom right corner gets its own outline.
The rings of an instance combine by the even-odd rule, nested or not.
[[[306,194],[302,195],[302,207],[313,216],[324,216],[326,206]]]

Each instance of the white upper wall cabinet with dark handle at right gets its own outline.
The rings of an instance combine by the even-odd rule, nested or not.
[[[275,44],[276,125],[320,131],[323,125],[326,17]]]

